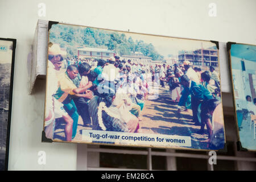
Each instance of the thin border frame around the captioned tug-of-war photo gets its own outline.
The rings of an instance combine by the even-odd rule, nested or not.
[[[69,23],[59,23],[59,22],[52,22],[52,21],[49,21],[49,24],[48,24],[48,43],[49,43],[49,31],[51,30],[51,27],[53,24],[63,24],[65,26],[78,26],[78,27],[88,27],[88,28],[95,28],[95,29],[98,29],[98,30],[105,30],[105,31],[117,31],[119,33],[127,33],[127,34],[138,34],[138,35],[150,35],[150,36],[160,36],[162,38],[174,38],[174,39],[185,39],[185,40],[197,40],[197,39],[187,39],[187,38],[176,38],[176,37],[171,37],[171,36],[163,36],[163,35],[152,35],[152,34],[141,34],[141,33],[137,33],[137,32],[127,32],[127,31],[119,31],[119,30],[109,30],[109,29],[105,29],[105,28],[97,28],[97,27],[90,27],[90,26],[81,26],[81,25],[76,25],[76,24],[69,24]],[[197,41],[201,41],[201,42],[211,42],[213,44],[216,45],[216,48],[217,48],[217,59],[218,59],[218,69],[220,69],[220,60],[219,60],[219,48],[218,48],[218,42],[216,41],[211,41],[211,40],[197,40]],[[49,48],[49,47],[48,47]],[[47,51],[47,57],[48,57],[48,51]],[[202,57],[203,57],[203,51],[202,51]],[[48,62],[47,61],[47,73],[48,73]],[[47,74],[48,75],[48,74]],[[47,81],[48,82],[48,76],[47,76]],[[220,80],[221,82],[221,80]],[[221,89],[221,86],[220,86],[220,89]],[[47,87],[46,87],[46,92],[47,92]],[[46,97],[47,97],[47,93],[46,93]],[[220,96],[221,97],[221,104],[222,104],[222,95]],[[47,98],[46,98],[47,100]],[[223,116],[223,110],[222,110],[222,116]],[[45,105],[45,114],[44,114],[44,120],[46,119],[46,105]],[[44,126],[45,126],[45,122],[44,122]],[[47,138],[46,137],[46,132],[44,131],[44,127],[43,127],[43,131],[42,131],[42,142],[67,142],[66,140],[55,140],[55,139],[51,139],[51,138]],[[224,147],[223,148],[218,148],[218,151],[226,151],[226,136],[225,136],[225,126],[224,126],[224,117],[223,117],[223,130],[224,130]],[[54,135],[54,133],[53,133]],[[159,136],[161,136],[162,134],[159,134]],[[209,149],[209,148],[204,148],[204,149],[201,149],[201,148],[185,148],[185,147],[174,147],[174,146],[154,146],[153,144],[140,144],[140,145],[136,145],[136,144],[106,144],[104,142],[100,142],[100,143],[94,143],[94,142],[83,142],[83,141],[76,141],[76,142],[67,142],[67,143],[87,143],[87,144],[104,144],[104,145],[112,145],[112,146],[129,146],[129,147],[157,147],[157,148],[174,148],[174,149],[179,149],[179,150],[201,150],[201,151],[209,151],[209,150],[214,150],[214,149]]]

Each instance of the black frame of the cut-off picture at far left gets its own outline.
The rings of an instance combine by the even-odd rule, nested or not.
[[[12,56],[11,56],[10,89],[9,89],[9,110],[8,110],[7,134],[6,134],[6,153],[5,153],[5,171],[7,171],[8,170],[8,163],[9,163],[11,107],[12,107],[12,102],[13,102],[13,80],[14,80],[14,63],[15,63],[16,39],[0,38],[0,40],[13,42],[13,51],[12,51]]]

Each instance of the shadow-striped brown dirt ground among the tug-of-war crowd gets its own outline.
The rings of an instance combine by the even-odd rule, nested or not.
[[[171,91],[166,88],[159,88],[159,97],[155,100],[146,100],[141,113],[142,121],[139,122],[138,133],[164,134],[191,137],[191,148],[207,148],[208,134],[196,134],[200,126],[192,123],[192,110],[177,113],[177,103],[171,101]],[[64,123],[57,126],[55,130],[56,140],[65,140]],[[81,142],[82,130],[91,130],[92,127],[84,127],[79,117],[76,137],[73,142]]]

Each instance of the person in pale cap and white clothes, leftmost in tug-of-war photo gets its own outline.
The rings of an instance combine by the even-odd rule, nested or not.
[[[62,51],[58,44],[49,44],[48,48],[48,65],[47,65],[47,92],[46,92],[46,114],[44,119],[44,131],[47,138],[53,139],[55,131],[55,122],[63,118],[66,122],[65,137],[67,141],[72,140],[73,119],[64,109],[64,105],[56,100],[53,95],[57,92],[58,82],[57,75],[61,69],[63,55],[67,52]]]

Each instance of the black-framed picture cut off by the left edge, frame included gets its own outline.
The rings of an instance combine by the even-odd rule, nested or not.
[[[0,38],[0,171],[8,169],[16,39]]]

